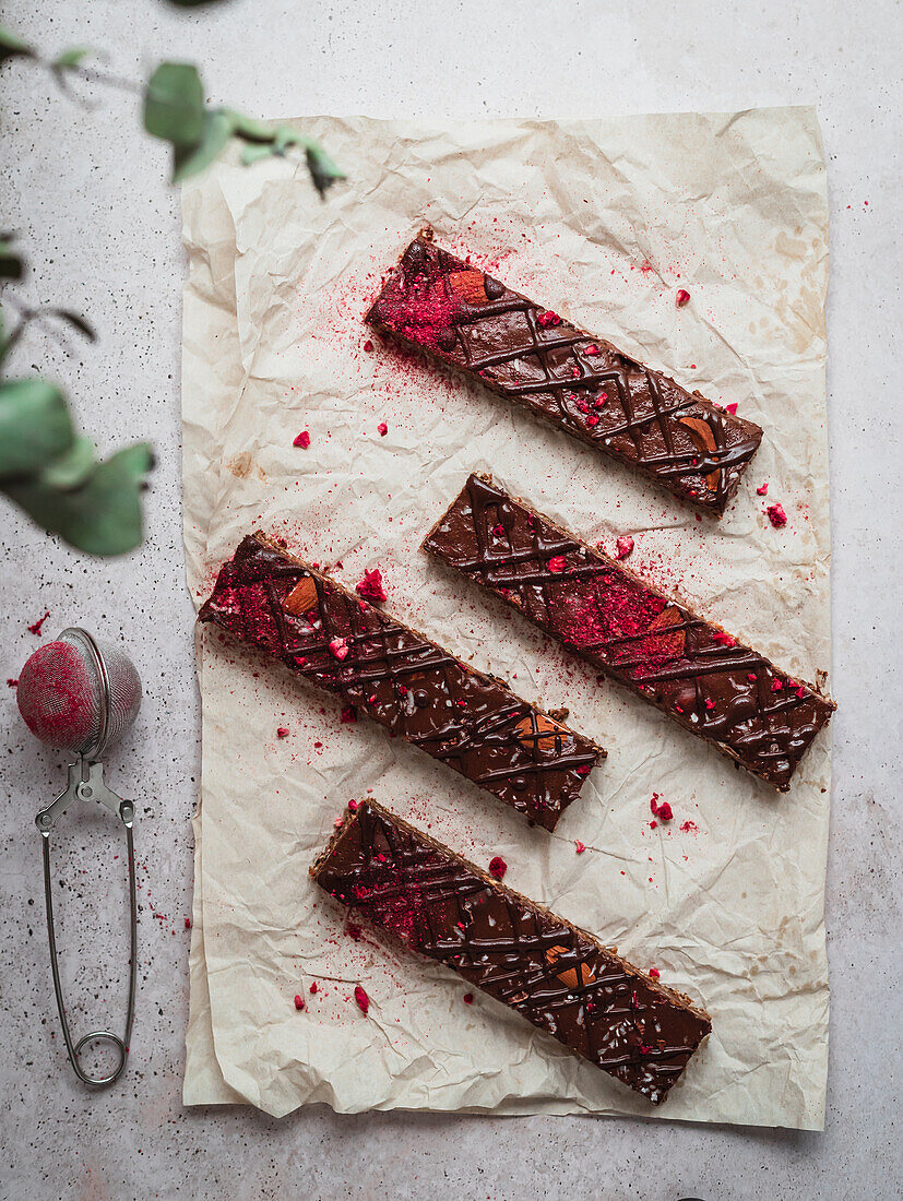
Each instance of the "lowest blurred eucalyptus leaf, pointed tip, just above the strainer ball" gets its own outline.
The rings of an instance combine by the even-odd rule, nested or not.
[[[50,533],[89,555],[124,555],[142,540],[140,490],[154,466],[146,443],[96,464],[78,488],[59,489],[43,477],[7,483],[4,491]]]

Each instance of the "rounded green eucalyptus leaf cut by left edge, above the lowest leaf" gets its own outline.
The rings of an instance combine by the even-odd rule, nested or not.
[[[72,446],[66,398],[46,380],[0,383],[0,479],[40,471]]]

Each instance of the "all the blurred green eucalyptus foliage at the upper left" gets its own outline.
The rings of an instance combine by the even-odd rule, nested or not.
[[[178,7],[201,7],[217,0],[169,0]],[[24,59],[49,71],[60,90],[77,103],[89,102],[71,86],[73,79],[143,97],[145,130],[173,148],[173,183],[204,171],[232,138],[245,144],[241,162],[301,150],[321,197],[345,175],[325,150],[289,125],[271,126],[225,107],[208,107],[201,76],[186,62],[162,62],[146,85],[97,67],[85,66],[86,47],[46,58],[18,34],[0,25],[0,67]],[[0,280],[20,280],[24,262],[14,237],[0,233]],[[4,305],[17,315],[5,336],[0,307],[0,368],[30,327],[68,346],[54,322],[62,321],[94,340],[90,324],[68,309],[31,305],[6,294]],[[97,461],[92,442],[79,435],[62,390],[36,376],[0,378],[0,492],[29,513],[44,530],[94,555],[119,555],[142,540],[140,492],[154,466],[149,446],[137,443]]]

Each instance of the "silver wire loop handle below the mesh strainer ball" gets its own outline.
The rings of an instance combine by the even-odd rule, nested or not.
[[[86,769],[86,777],[85,777]],[[121,820],[125,826],[126,848],[128,858],[128,902],[130,902],[130,927],[131,927],[131,949],[128,960],[128,1005],[126,1010],[125,1020],[125,1033],[120,1039],[118,1034],[113,1034],[110,1030],[91,1030],[90,1034],[85,1034],[73,1045],[72,1035],[70,1034],[68,1020],[66,1017],[66,1005],[62,999],[62,985],[60,982],[60,967],[56,957],[56,936],[54,933],[53,922],[53,891],[50,888],[50,831],[53,830],[56,818],[66,812],[68,806],[78,800],[96,800],[101,805],[106,806],[112,813]],[[60,1024],[62,1027],[62,1038],[66,1041],[66,1051],[68,1052],[70,1063],[72,1069],[83,1085],[89,1085],[94,1088],[104,1088],[108,1085],[114,1083],[119,1080],[122,1071],[125,1070],[126,1060],[128,1058],[128,1044],[132,1038],[132,1023],[134,1022],[134,993],[138,981],[138,902],[136,897],[136,885],[134,885],[134,839],[132,836],[132,826],[134,824],[134,805],[131,801],[124,801],[121,797],[112,793],[107,785],[103,783],[103,767],[100,763],[82,763],[72,764],[68,769],[68,787],[64,793],[56,797],[56,800],[49,805],[46,809],[41,809],[35,819],[37,829],[41,831],[41,847],[43,853],[43,865],[44,865],[44,903],[47,909],[47,936],[50,943],[50,968],[53,969],[53,987],[56,993],[56,1008],[60,1014]],[[119,1056],[119,1062],[113,1071],[108,1072],[106,1076],[89,1076],[86,1071],[83,1070],[79,1056],[83,1047],[89,1042],[108,1042]]]

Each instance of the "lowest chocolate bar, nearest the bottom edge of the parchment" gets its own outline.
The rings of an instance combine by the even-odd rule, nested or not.
[[[708,1014],[375,801],[352,802],[317,884],[658,1105]]]

